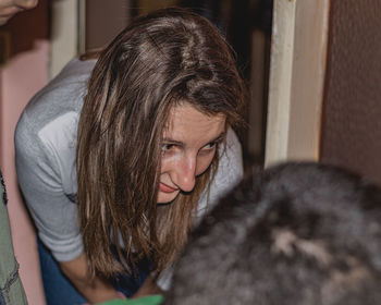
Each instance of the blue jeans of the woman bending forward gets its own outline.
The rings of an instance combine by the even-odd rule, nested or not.
[[[61,272],[58,263],[39,239],[37,239],[37,245],[47,305],[79,305],[86,303],[86,298]],[[137,277],[132,277],[125,272],[109,281],[118,291],[130,297],[147,278],[151,269],[150,266],[148,259],[143,259],[137,264]]]

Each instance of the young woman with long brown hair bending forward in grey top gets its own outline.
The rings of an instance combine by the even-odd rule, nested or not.
[[[144,294],[152,279],[164,288],[197,217],[242,178],[231,126],[243,93],[218,29],[164,9],[133,21],[97,60],[72,60],[33,98],[16,168],[48,303],[131,296],[145,281]]]

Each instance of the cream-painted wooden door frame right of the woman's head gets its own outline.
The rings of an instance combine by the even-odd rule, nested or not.
[[[274,0],[265,166],[318,160],[330,0]]]

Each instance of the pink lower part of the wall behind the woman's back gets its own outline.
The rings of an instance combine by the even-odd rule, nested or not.
[[[1,102],[1,160],[8,209],[15,256],[20,263],[20,276],[30,305],[44,305],[44,292],[39,272],[36,234],[25,210],[17,187],[14,167],[14,129],[21,111],[48,81],[49,44],[35,42],[35,48],[17,54],[0,70]]]

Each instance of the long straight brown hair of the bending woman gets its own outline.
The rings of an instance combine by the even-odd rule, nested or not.
[[[189,102],[208,115],[225,114],[233,125],[241,120],[243,88],[218,29],[183,9],[134,20],[100,53],[81,113],[76,156],[81,230],[91,274],[121,271],[126,260],[135,261],[133,253],[149,256],[157,270],[173,260],[218,156],[193,192],[158,207],[161,137],[170,109]]]

